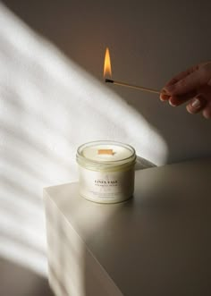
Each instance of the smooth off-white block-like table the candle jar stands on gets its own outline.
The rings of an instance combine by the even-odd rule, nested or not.
[[[82,199],[78,183],[44,196],[56,295],[211,295],[211,158],[136,172],[122,204]]]

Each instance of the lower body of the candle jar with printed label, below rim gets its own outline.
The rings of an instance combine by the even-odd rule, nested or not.
[[[134,168],[124,172],[96,172],[80,167],[80,195],[96,202],[118,202],[131,198]]]

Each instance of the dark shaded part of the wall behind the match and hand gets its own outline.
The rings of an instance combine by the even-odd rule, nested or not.
[[[160,89],[173,74],[210,59],[210,1],[5,0],[30,27],[102,80],[105,47],[114,79]],[[210,155],[211,123],[156,95],[108,86],[134,106],[168,146],[167,162]]]

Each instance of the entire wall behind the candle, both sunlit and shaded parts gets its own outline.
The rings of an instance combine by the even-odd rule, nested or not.
[[[4,2],[66,55],[0,6],[0,254],[45,274],[42,188],[77,180],[81,143],[126,141],[156,165],[210,156],[210,121],[155,95],[105,85],[102,68],[110,47],[114,79],[160,89],[173,73],[210,58],[211,7]]]

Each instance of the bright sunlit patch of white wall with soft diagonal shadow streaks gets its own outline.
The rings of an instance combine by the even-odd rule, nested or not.
[[[42,189],[77,181],[76,148],[119,140],[158,165],[167,148],[120,96],[0,8],[0,255],[46,275]]]

